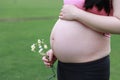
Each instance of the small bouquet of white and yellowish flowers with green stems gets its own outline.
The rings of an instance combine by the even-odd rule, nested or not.
[[[49,56],[46,55],[46,51],[48,50],[48,45],[44,42],[44,39],[38,39],[38,41],[36,43],[33,43],[31,45],[31,51],[32,52],[36,52],[39,53],[41,56],[46,56],[46,58],[48,59]],[[55,67],[52,65],[51,66],[53,75],[51,75],[47,80],[53,80],[53,78],[56,77],[56,73],[55,73]]]

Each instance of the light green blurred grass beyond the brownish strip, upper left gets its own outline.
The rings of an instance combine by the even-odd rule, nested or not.
[[[39,17],[56,16],[60,0],[1,0],[0,17]]]

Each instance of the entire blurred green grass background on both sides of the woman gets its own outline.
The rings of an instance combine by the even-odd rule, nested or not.
[[[62,0],[0,0],[0,80],[49,77],[51,70],[30,46],[38,38],[49,43],[61,6]],[[111,80],[120,80],[119,35],[112,35],[111,45]]]

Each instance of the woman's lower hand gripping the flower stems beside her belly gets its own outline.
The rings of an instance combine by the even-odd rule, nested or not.
[[[42,60],[47,67],[51,67],[57,58],[53,54],[53,50],[50,49],[47,51],[46,56],[43,56]]]

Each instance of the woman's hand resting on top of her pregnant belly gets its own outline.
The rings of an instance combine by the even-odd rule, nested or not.
[[[78,10],[80,9],[74,5],[64,5],[61,9],[59,18],[64,20],[75,20]]]

